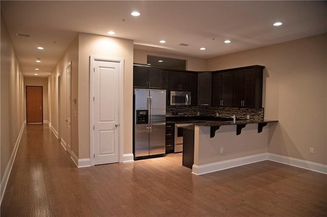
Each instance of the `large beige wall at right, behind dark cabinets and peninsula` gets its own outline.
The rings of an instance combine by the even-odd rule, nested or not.
[[[327,164],[326,52],[324,34],[208,59],[207,70],[266,66],[265,118],[279,121],[268,152]]]

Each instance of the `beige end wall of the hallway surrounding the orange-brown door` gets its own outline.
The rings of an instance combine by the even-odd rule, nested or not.
[[[24,77],[24,120],[26,121],[26,86],[42,86],[43,122],[49,121],[48,77]]]

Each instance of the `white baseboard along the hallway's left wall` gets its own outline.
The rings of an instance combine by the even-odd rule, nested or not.
[[[4,176],[3,176],[2,180],[1,180],[1,189],[0,189],[1,201],[0,201],[0,204],[2,203],[2,200],[3,200],[4,195],[5,195],[8,179],[9,179],[9,176],[10,176],[10,173],[11,173],[12,166],[13,166],[14,161],[15,161],[16,153],[17,153],[17,150],[18,150],[18,146],[19,146],[19,143],[20,143],[22,132],[24,131],[25,124],[26,124],[26,121],[24,121],[22,123],[22,125],[21,125],[21,128],[20,128],[16,143],[15,143],[14,149],[13,149],[13,151],[11,153],[11,156],[10,156],[7,168],[6,168],[6,171],[5,171]]]

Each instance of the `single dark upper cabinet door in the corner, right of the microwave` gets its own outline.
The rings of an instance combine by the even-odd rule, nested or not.
[[[211,73],[198,74],[198,105],[211,105]]]

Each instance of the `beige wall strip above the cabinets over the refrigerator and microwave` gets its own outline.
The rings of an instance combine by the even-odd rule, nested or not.
[[[168,53],[159,53],[159,52],[153,52],[149,50],[139,50],[139,49],[134,49],[134,63],[147,64],[148,55],[155,56],[155,57],[167,57],[167,58],[174,58],[179,60],[186,60],[187,62],[186,69],[190,71],[203,71],[206,68],[205,59],[170,55]]]

